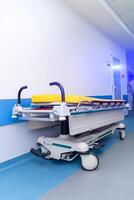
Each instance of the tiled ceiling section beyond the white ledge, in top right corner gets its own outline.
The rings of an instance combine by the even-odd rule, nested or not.
[[[107,2],[134,33],[134,0],[107,0]]]

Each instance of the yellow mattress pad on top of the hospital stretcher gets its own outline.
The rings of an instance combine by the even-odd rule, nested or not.
[[[98,99],[98,98],[91,98],[79,95],[66,95],[65,101],[67,103],[80,103],[82,101],[87,102],[124,102],[123,100],[107,100],[107,99]],[[43,94],[43,95],[33,95],[32,96],[32,103],[53,103],[53,102],[61,102],[61,96],[58,94]]]

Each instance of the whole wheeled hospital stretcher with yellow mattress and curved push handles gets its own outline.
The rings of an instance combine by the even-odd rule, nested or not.
[[[45,159],[72,161],[80,156],[85,170],[94,170],[99,165],[93,149],[103,146],[101,139],[118,130],[121,140],[126,137],[124,100],[105,100],[83,96],[66,96],[58,82],[61,95],[34,95],[31,106],[21,105],[20,88],[18,103],[13,107],[12,117],[27,120],[31,129],[60,126],[60,134],[55,137],[41,136],[37,140],[38,149],[31,149],[36,156]]]

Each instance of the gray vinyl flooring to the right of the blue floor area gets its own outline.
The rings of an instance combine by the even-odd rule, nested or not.
[[[118,140],[99,156],[93,172],[78,171],[41,200],[133,200],[134,134]]]

